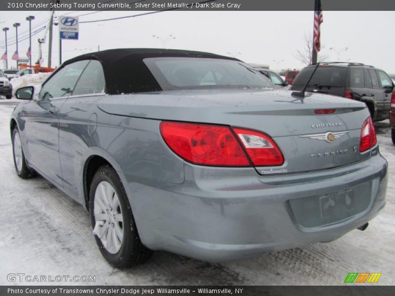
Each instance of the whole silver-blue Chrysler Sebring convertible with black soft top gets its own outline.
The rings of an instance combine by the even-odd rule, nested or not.
[[[106,50],[16,96],[17,174],[86,207],[117,267],[151,250],[221,261],[328,242],[385,205],[364,103],[276,90],[234,58]]]

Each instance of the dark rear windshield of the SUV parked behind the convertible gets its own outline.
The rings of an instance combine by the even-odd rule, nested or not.
[[[310,75],[313,73],[315,67],[304,68],[295,78],[294,85],[305,85]],[[318,67],[314,73],[309,86],[330,85],[330,86],[345,86],[346,84],[346,68],[340,67]]]

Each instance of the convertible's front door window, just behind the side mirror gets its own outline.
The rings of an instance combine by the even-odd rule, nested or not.
[[[79,75],[88,63],[89,60],[74,62],[51,76],[41,88],[40,100],[71,95]]]

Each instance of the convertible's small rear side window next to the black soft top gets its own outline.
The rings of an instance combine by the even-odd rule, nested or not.
[[[103,93],[106,90],[106,81],[102,64],[91,60],[83,71],[73,91],[73,96]]]

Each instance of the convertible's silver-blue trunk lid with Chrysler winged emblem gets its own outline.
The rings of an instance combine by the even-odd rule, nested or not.
[[[123,116],[222,124],[262,131],[284,156],[277,167],[257,167],[262,175],[322,170],[369,157],[359,152],[360,131],[369,113],[353,100],[290,91],[166,91],[105,96],[98,107]],[[315,110],[335,109],[333,114]]]

